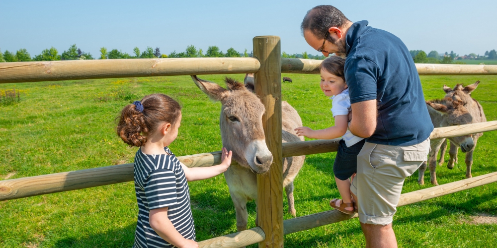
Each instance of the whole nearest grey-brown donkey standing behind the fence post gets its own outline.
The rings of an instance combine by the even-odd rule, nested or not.
[[[228,89],[199,79],[195,75],[191,77],[211,99],[221,101],[219,125],[223,146],[233,151],[233,159],[238,163],[230,166],[224,173],[224,177],[235,204],[237,229],[238,231],[246,230],[247,202],[257,199],[256,174],[267,173],[273,161],[262,129],[264,105],[253,94],[253,74],[246,75],[245,85],[234,79],[226,78]],[[281,102],[281,111],[283,142],[304,141],[303,136],[298,137],[293,131],[302,126],[302,120],[297,111],[285,101]],[[304,160],[305,156],[283,158],[283,187],[285,187],[288,198],[288,212],[293,216],[295,216],[293,180],[304,164]]]

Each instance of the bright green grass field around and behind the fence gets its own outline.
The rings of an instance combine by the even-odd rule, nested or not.
[[[243,80],[244,75],[232,75]],[[283,100],[305,125],[333,124],[331,100],[319,89],[319,75],[283,74]],[[201,77],[221,82],[223,76]],[[472,94],[488,121],[497,120],[497,76],[422,76],[425,99],[444,96],[453,87],[480,80]],[[98,79],[1,84],[24,92],[20,102],[0,104],[0,180],[82,170],[133,162],[129,148],[114,133],[114,119],[129,102],[165,93],[183,106],[178,138],[170,148],[178,156],[221,149],[221,104],[208,100],[189,76]],[[497,132],[487,132],[474,155],[473,176],[497,171]],[[330,210],[339,197],[334,184],[334,153],[309,155],[295,180],[297,216]],[[448,159],[448,154],[447,158]],[[464,179],[464,154],[448,170],[437,168],[439,184]],[[403,192],[432,186],[406,179]],[[235,209],[223,175],[190,183],[197,240],[236,232]],[[287,208],[285,201],[285,209]],[[0,247],[131,247],[137,219],[133,182],[0,202]],[[249,228],[255,204],[248,203]],[[497,184],[453,193],[398,209],[394,230],[401,247],[497,247],[497,224],[477,224],[473,216],[497,215]],[[291,218],[286,214],[285,219]],[[357,219],[285,236],[285,247],[363,247]],[[253,245],[251,247],[256,247]]]

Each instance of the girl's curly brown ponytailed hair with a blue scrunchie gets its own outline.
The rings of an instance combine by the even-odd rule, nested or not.
[[[147,141],[146,135],[163,122],[174,125],[181,114],[181,106],[164,94],[145,96],[141,102],[130,104],[116,118],[116,132],[130,147],[140,147]]]

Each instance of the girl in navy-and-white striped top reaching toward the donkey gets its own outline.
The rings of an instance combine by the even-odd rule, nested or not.
[[[121,111],[117,135],[135,155],[138,223],[134,248],[196,248],[195,226],[187,181],[214,177],[226,171],[232,152],[222,149],[221,164],[188,168],[167,147],[178,135],[181,107],[172,98],[152,94]]]

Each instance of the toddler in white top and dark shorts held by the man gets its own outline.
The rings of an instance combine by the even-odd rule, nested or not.
[[[329,57],[320,65],[320,87],[325,96],[331,97],[331,112],[335,125],[321,130],[313,130],[307,126],[298,127],[297,135],[308,138],[333,139],[342,137],[333,163],[333,173],[340,199],[332,199],[330,206],[346,214],[353,214],[354,204],[350,193],[349,178],[357,171],[357,154],[364,145],[364,139],[353,135],[348,129],[348,113],[350,112],[350,98],[347,84],[343,75],[345,60],[340,57]]]

